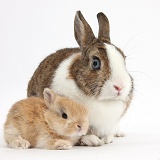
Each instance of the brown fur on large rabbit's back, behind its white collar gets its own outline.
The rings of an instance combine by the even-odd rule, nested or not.
[[[55,71],[62,61],[73,54],[79,53],[79,48],[65,48],[50,54],[38,66],[28,83],[27,96],[43,97],[44,88],[50,88]]]

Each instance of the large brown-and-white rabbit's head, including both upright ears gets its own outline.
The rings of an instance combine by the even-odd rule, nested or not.
[[[74,21],[75,39],[81,55],[70,67],[70,75],[88,96],[98,100],[123,100],[132,92],[133,81],[125,65],[124,53],[110,40],[108,18],[97,14],[99,34],[96,38],[80,11]]]

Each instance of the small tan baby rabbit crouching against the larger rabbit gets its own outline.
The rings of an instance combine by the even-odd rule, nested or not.
[[[85,107],[46,88],[44,99],[30,97],[13,105],[4,136],[12,148],[70,149],[88,126]]]

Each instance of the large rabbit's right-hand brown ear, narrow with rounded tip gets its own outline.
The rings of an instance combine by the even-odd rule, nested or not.
[[[110,27],[108,18],[104,13],[100,12],[97,14],[97,19],[99,23],[98,39],[103,42],[110,42]]]

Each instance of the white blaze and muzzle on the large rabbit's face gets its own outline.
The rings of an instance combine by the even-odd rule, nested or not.
[[[106,44],[107,56],[111,68],[110,78],[102,87],[99,100],[119,99],[125,100],[131,89],[131,78],[126,70],[125,61],[121,53],[112,45]],[[118,91],[114,88],[118,86],[122,88],[120,95],[117,96]]]

